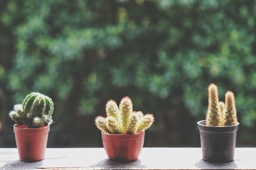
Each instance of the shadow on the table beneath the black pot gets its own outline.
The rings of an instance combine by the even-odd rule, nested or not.
[[[211,163],[201,159],[195,166],[200,169],[235,169],[237,164],[234,160],[226,163]]]

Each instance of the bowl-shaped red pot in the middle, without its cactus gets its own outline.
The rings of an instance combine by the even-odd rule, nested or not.
[[[143,148],[144,136],[144,132],[138,134],[102,133],[102,142],[109,159],[130,162],[139,157]]]

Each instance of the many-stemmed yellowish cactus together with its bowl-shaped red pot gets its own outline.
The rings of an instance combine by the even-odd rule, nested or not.
[[[154,122],[152,114],[132,110],[129,97],[122,98],[119,108],[116,102],[106,104],[107,117],[97,116],[95,125],[102,132],[102,143],[111,160],[134,161],[143,148],[145,130]]]

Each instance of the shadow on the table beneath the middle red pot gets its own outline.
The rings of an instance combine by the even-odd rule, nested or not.
[[[141,165],[141,160],[135,160],[134,162],[114,162],[112,160],[109,160],[108,158],[101,160],[97,164],[94,164],[90,167],[95,168],[104,168],[104,169],[139,169],[139,168],[145,168],[145,166]]]

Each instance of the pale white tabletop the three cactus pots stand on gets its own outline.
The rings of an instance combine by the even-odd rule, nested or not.
[[[45,159],[22,162],[16,148],[0,148],[1,169],[256,169],[256,148],[236,148],[235,160],[212,164],[201,148],[143,148],[138,160],[118,163],[104,148],[47,148]]]

